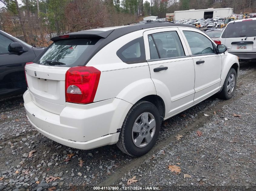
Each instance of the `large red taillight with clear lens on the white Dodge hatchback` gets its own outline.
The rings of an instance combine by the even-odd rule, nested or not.
[[[69,68],[66,72],[66,102],[91,103],[94,100],[101,71],[92,66]]]

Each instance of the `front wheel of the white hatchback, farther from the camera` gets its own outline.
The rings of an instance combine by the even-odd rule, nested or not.
[[[233,97],[237,82],[237,73],[234,68],[230,68],[228,75],[224,81],[222,90],[218,93],[218,97],[223,100],[228,100]]]

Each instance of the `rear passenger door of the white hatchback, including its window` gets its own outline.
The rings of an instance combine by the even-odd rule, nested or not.
[[[146,59],[156,93],[173,116],[193,105],[194,64],[178,28],[145,31]]]

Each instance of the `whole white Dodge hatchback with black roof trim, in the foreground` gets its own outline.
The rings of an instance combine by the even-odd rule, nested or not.
[[[190,25],[147,22],[52,41],[25,66],[24,106],[38,132],[69,147],[117,143],[141,156],[163,120],[236,88],[238,57]]]

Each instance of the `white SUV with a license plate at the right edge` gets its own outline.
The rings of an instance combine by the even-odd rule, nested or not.
[[[256,18],[231,21],[220,39],[241,60],[256,60]]]

